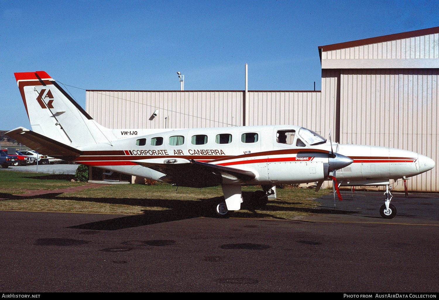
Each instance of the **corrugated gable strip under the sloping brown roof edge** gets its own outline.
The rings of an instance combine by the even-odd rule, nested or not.
[[[322,59],[439,58],[439,33],[324,51]]]

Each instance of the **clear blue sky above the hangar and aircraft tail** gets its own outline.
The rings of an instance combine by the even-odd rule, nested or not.
[[[83,89],[320,89],[318,46],[439,26],[438,1],[0,0],[0,130],[30,128],[14,72]],[[69,88],[85,108],[85,91]]]

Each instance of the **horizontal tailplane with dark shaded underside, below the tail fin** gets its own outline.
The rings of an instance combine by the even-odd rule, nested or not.
[[[47,136],[43,136],[23,127],[12,129],[5,134],[15,139],[17,142],[22,143],[23,145],[28,146],[29,148],[43,155],[57,158],[67,158],[76,157],[83,154],[83,151],[81,150],[75,149],[71,146],[65,145],[55,141],[54,139],[50,139]]]

